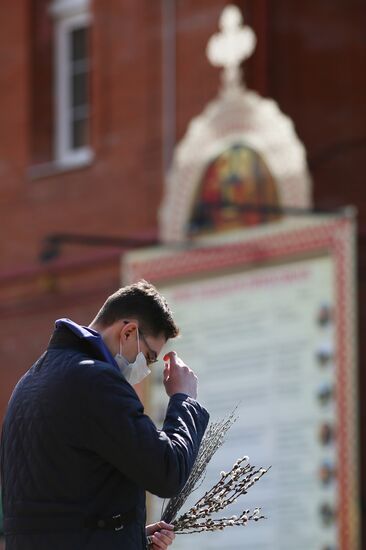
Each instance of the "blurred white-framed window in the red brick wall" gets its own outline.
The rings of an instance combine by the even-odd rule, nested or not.
[[[92,158],[90,148],[89,1],[56,0],[55,156],[61,167]]]

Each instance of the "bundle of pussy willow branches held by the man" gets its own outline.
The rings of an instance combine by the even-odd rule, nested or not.
[[[225,435],[236,421],[234,411],[225,419],[211,422],[201,442],[200,450],[191,474],[180,493],[172,498],[163,515],[162,520],[174,525],[176,534],[190,534],[201,531],[217,531],[234,525],[246,525],[248,521],[263,519],[261,509],[252,512],[244,510],[239,517],[213,519],[210,516],[236,502],[240,495],[246,494],[268,469],[251,466],[249,458],[244,456],[238,459],[229,472],[221,472],[220,480],[201,497],[196,504],[177,519],[179,510],[190,494],[202,481],[207,465],[213,455],[224,442]]]

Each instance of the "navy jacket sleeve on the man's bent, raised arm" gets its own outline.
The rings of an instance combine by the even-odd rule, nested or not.
[[[104,369],[88,391],[88,446],[145,490],[169,498],[188,479],[208,418],[196,400],[175,394],[158,430],[134,389]]]

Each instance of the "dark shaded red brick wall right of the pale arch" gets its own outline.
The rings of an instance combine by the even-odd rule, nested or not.
[[[366,223],[366,5],[269,2],[268,93],[294,120],[315,202],[355,204]]]

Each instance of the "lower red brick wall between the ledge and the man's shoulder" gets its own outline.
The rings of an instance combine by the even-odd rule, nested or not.
[[[88,325],[119,286],[119,255],[27,274],[0,285],[0,418],[17,380],[43,353],[54,321]]]

